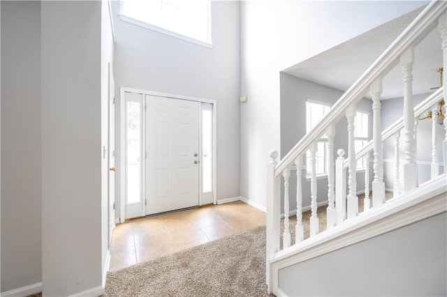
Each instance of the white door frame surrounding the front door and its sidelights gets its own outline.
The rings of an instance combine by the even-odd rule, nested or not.
[[[142,89],[133,89],[128,87],[120,87],[119,91],[119,130],[120,130],[120,139],[119,139],[119,167],[122,169],[119,174],[119,201],[120,201],[120,208],[119,208],[119,222],[124,222],[126,220],[126,109],[125,109],[125,93],[140,93],[143,96],[149,95],[149,96],[158,96],[158,97],[166,97],[166,98],[173,98],[173,99],[179,99],[179,100],[190,100],[190,101],[196,101],[201,103],[211,103],[212,104],[212,193],[213,193],[213,204],[217,204],[217,102],[216,100],[209,100],[209,99],[203,99],[203,98],[196,98],[196,97],[190,97],[190,96],[181,96],[181,95],[175,95],[175,94],[169,94],[169,93],[160,93],[156,91],[147,91]],[[199,125],[201,129],[201,110],[200,109],[200,120]],[[143,107],[143,111],[145,111],[145,107]],[[201,130],[200,130],[201,131]],[[201,133],[199,133],[199,137],[201,139]],[[144,152],[146,155],[146,152]],[[200,153],[201,152],[201,144],[200,144]],[[202,205],[202,169],[199,167],[199,206]],[[145,199],[145,197],[143,197]],[[142,215],[145,215],[145,202],[143,203],[142,208]]]

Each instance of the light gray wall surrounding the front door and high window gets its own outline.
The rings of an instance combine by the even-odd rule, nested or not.
[[[119,19],[115,24],[116,127],[119,88],[217,101],[217,199],[240,196],[240,3],[212,1],[212,49]],[[119,165],[120,135],[116,135]],[[117,181],[120,171],[117,170]],[[119,217],[119,183],[115,215]]]

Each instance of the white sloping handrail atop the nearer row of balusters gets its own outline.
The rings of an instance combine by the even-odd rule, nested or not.
[[[376,79],[386,75],[400,59],[400,56],[410,46],[417,45],[424,36],[435,26],[438,18],[447,9],[447,1],[432,1],[427,7],[411,22],[411,24],[400,34],[399,37],[379,56],[374,63],[360,76],[360,78],[346,91],[335,105],[332,106],[327,116],[307,133],[298,144],[295,144],[279,164],[274,169],[274,176],[279,176],[281,172],[290,166],[295,159],[304,153],[309,146],[316,141],[325,130],[333,123],[337,122],[344,115],[345,110],[365,96],[369,86]]]

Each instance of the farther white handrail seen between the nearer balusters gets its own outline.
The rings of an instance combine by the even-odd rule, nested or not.
[[[416,107],[414,107],[414,114],[422,114],[425,112],[428,108],[430,108],[432,105],[436,104],[437,102],[441,101],[443,97],[443,87],[437,89],[434,93],[432,93],[430,96],[427,97],[427,99],[423,100],[423,102],[420,102]],[[389,137],[393,136],[395,132],[398,130],[404,128],[404,118],[401,117],[393,125],[390,125],[388,128],[382,131],[382,140],[388,139]],[[356,160],[360,159],[365,155],[365,153],[369,153],[369,151],[372,151],[373,141],[369,140],[365,146],[363,146],[358,153],[356,153]],[[348,159],[344,160],[343,167],[348,167]]]

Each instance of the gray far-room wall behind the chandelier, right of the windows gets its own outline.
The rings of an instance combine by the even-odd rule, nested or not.
[[[430,93],[420,94],[413,96],[414,105],[418,105],[420,102],[425,100],[430,96]],[[382,100],[381,102],[381,118],[382,118],[382,128],[386,128],[393,124],[397,119],[402,117],[402,111],[404,108],[404,98],[394,98],[389,100]],[[443,149],[442,142],[444,140],[445,130],[444,125],[437,125],[437,148],[438,148],[438,162],[443,163]],[[400,134],[400,167],[401,167],[401,183],[402,183],[402,160],[404,158],[404,133],[401,130]],[[432,162],[432,121],[424,120],[418,121],[418,135],[417,135],[418,153],[417,160],[418,165],[418,180],[419,183],[424,183],[430,180],[430,162]],[[395,177],[395,166],[394,166],[394,137],[387,139],[383,142],[383,179],[385,181],[385,186],[388,189],[393,189],[394,177]],[[439,166],[439,172],[442,174],[444,172],[444,166]]]

